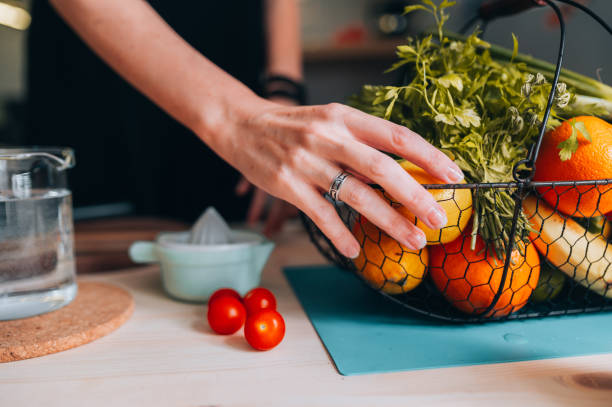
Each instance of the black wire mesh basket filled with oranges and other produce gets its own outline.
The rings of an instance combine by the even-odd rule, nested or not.
[[[586,12],[612,34],[590,9],[571,0],[557,1]],[[327,196],[361,245],[359,257],[352,260],[302,214],[312,242],[327,259],[411,311],[451,322],[489,322],[612,310],[612,218],[601,210],[607,205],[612,210],[612,179],[533,181],[565,47],[563,15],[553,0],[543,2],[559,19],[559,54],[539,137],[528,157],[514,167],[513,182],[423,185],[456,215],[449,216],[440,231],[426,231],[428,245],[420,251],[401,246],[350,206]],[[494,3],[500,7],[481,9],[485,25],[531,2]],[[382,188],[372,187],[400,213],[411,216]],[[484,212],[472,198],[486,193],[497,202],[502,192],[512,197],[514,209],[510,233],[504,238],[515,243],[506,244],[500,253],[491,250],[495,242],[484,241],[466,225],[473,213]],[[531,227],[525,240],[517,236],[521,215]],[[467,246],[471,250],[465,250]]]

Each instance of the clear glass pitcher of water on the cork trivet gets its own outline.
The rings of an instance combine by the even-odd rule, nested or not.
[[[0,149],[0,320],[68,304],[77,292],[69,148]]]

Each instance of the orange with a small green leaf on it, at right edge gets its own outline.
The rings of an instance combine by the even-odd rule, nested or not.
[[[591,141],[578,131],[578,150],[567,161],[559,158],[559,143],[572,134],[571,122],[584,123]],[[534,181],[580,181],[612,178],[612,125],[593,116],[566,120],[546,133],[536,162]],[[601,216],[612,211],[612,185],[538,188],[544,199],[569,216]]]

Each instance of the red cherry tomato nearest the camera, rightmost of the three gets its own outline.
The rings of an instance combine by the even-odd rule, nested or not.
[[[285,321],[274,310],[263,310],[250,315],[244,325],[244,337],[257,350],[272,349],[281,343],[284,336]]]

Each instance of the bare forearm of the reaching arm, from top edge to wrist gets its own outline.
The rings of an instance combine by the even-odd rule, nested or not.
[[[142,0],[51,0],[113,69],[205,142],[257,97],[184,41]],[[214,143],[213,143],[214,144]]]

